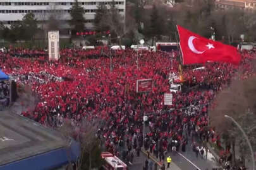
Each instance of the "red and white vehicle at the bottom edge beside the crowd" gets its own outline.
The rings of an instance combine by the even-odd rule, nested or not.
[[[103,168],[106,170],[126,170],[127,165],[121,161],[118,157],[114,156],[110,152],[102,152],[102,159],[106,161],[103,165]]]

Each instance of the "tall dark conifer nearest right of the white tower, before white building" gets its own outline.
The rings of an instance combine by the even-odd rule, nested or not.
[[[73,6],[71,8],[71,20],[70,20],[70,26],[73,27],[73,34],[76,32],[81,32],[85,28],[85,18],[83,14],[85,13],[82,6],[78,4],[78,0],[75,0],[75,3],[73,3]]]

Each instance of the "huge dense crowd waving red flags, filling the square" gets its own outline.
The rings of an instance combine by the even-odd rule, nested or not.
[[[24,57],[23,52],[30,57]],[[66,48],[56,62],[47,61],[44,54],[40,50],[11,48],[0,52],[0,68],[16,77],[18,84],[29,84],[40,99],[35,108],[22,115],[51,127],[61,126],[65,119],[79,126],[83,118],[100,118],[104,123],[99,125],[99,138],[107,150],[125,159],[131,157],[132,150],[138,153],[144,147],[164,160],[165,153],[171,150],[185,152],[188,137],[219,144],[214,128],[205,128],[210,103],[217,91],[229,85],[238,69],[243,71],[242,79],[255,76],[255,53],[243,52],[239,66],[216,62],[204,64],[200,70],[195,70],[200,65],[185,66],[182,72],[188,90],[173,93],[173,105],[166,106],[168,76],[179,74],[178,52],[172,61],[173,69],[172,55],[164,52]],[[113,55],[112,64],[107,54]],[[152,79],[152,91],[137,93],[138,79]],[[143,139],[145,115],[149,116],[149,132]],[[119,153],[118,148],[125,144],[127,152]]]

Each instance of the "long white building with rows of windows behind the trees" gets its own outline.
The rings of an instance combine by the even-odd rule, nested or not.
[[[116,8],[125,16],[126,0],[114,0]],[[75,0],[0,0],[0,22],[11,25],[27,13],[34,13],[38,21],[46,21],[51,13],[58,15],[58,20],[70,20],[70,9]],[[85,10],[86,28],[93,27],[93,20],[100,4],[108,6],[112,0],[78,0]]]

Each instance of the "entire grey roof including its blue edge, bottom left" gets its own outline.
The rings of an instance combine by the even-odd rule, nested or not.
[[[65,142],[66,141],[66,142]],[[0,170],[51,169],[75,161],[80,147],[33,120],[1,111]]]

